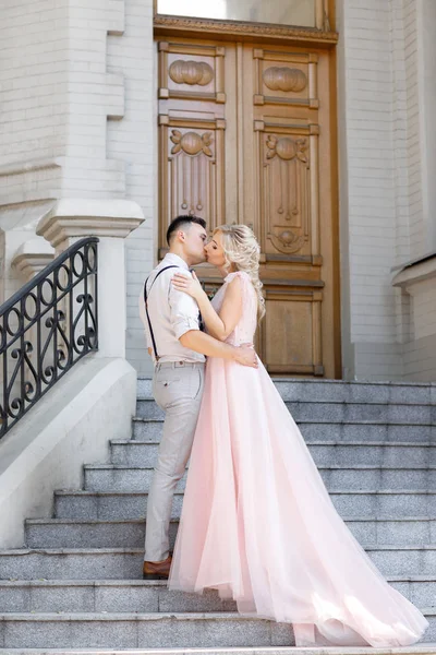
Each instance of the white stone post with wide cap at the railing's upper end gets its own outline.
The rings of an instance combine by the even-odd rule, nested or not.
[[[144,221],[135,202],[63,199],[40,219],[36,233],[60,254],[83,237],[98,237],[98,356],[125,357],[124,239]]]

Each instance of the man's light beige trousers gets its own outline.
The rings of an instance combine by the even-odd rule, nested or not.
[[[158,364],[153,395],[166,413],[164,433],[147,502],[145,561],[169,555],[169,525],[175,487],[191,455],[204,388],[204,364]]]

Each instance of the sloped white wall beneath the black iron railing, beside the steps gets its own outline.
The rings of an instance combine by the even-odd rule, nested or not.
[[[130,439],[136,372],[124,359],[87,356],[0,442],[0,548],[24,544],[25,519],[49,516],[53,491],[80,489],[83,465]]]

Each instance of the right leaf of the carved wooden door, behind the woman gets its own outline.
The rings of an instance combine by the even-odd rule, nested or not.
[[[245,48],[252,75],[244,79],[244,97],[252,98],[253,117],[245,144],[256,166],[251,206],[267,303],[261,352],[274,374],[334,377],[335,370],[323,348],[336,326],[324,267],[332,235],[322,239],[319,136],[328,126],[320,124],[319,92],[326,99],[326,90],[319,88],[319,61],[324,66],[317,52]],[[329,198],[324,201],[330,222]]]

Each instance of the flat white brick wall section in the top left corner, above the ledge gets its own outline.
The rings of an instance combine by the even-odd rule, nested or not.
[[[2,165],[64,153],[68,0],[1,8]]]

